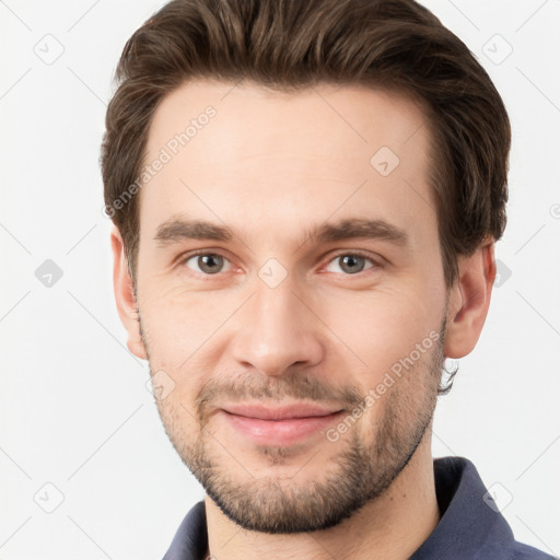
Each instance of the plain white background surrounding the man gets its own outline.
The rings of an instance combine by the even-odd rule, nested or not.
[[[124,346],[102,215],[112,74],[161,3],[0,1],[3,560],[161,558],[203,497],[165,436],[147,363]],[[479,58],[513,125],[502,283],[440,401],[434,455],[470,458],[516,537],[560,555],[560,1],[423,3]],[[46,40],[63,47],[50,65],[35,52]],[[35,277],[46,259],[63,272],[50,288]]]

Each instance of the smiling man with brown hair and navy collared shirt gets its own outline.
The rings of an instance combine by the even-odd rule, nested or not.
[[[207,493],[165,559],[550,558],[431,455],[505,226],[467,47],[412,0],[174,0],[117,79],[118,312]]]

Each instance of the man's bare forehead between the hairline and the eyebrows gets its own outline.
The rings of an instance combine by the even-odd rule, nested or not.
[[[141,231],[182,211],[260,228],[261,235],[282,231],[285,220],[303,228],[312,215],[316,222],[335,213],[433,222],[428,156],[427,117],[405,95],[350,85],[285,93],[247,82],[184,83],[150,127]]]

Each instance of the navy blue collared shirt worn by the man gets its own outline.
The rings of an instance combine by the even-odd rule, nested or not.
[[[409,560],[555,560],[515,540],[470,460],[439,458],[433,468],[441,520]],[[183,520],[163,560],[203,560],[207,548],[200,501]]]

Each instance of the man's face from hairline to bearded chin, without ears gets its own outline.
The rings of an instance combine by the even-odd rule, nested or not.
[[[170,439],[245,528],[336,525],[429,446],[447,292],[423,124],[401,96],[327,85],[199,81],[155,114],[144,163],[171,159],[140,194],[142,340]],[[364,236],[328,229],[346,220]],[[233,235],[192,238],[187,221]],[[255,404],[340,412],[224,410]]]

